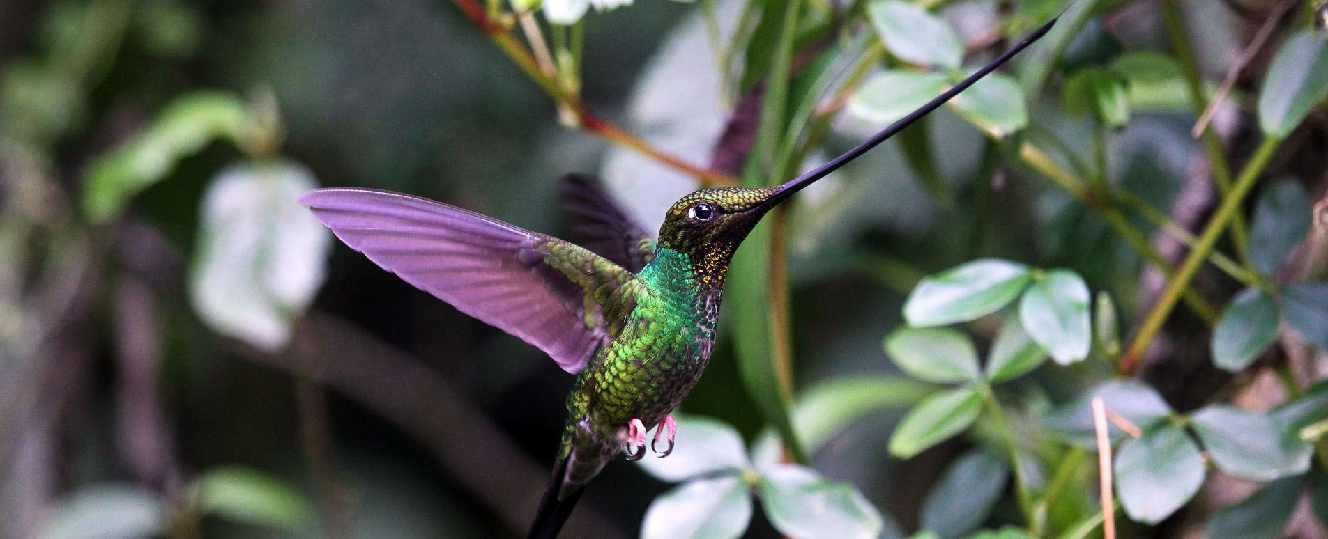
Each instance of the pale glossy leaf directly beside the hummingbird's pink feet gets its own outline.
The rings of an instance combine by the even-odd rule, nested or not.
[[[676,483],[716,471],[750,467],[742,435],[729,424],[700,416],[673,414],[677,438],[668,458],[643,458],[637,463],[660,481]]]

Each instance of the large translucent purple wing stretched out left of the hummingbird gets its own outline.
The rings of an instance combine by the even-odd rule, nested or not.
[[[300,202],[351,248],[515,335],[575,373],[620,316],[622,267],[571,243],[400,193],[320,189]],[[606,305],[608,308],[606,308]]]

